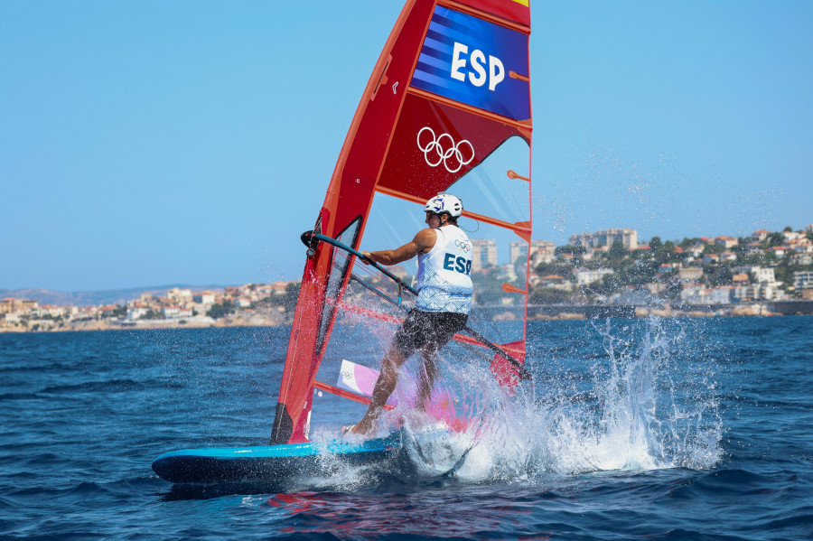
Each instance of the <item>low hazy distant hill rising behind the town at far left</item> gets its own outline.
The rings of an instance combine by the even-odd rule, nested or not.
[[[96,306],[97,304],[125,304],[127,301],[137,299],[141,294],[161,295],[173,287],[188,288],[192,291],[221,290],[222,285],[157,285],[155,287],[131,287],[129,289],[110,289],[105,291],[78,291],[62,292],[47,289],[0,289],[0,299],[14,297],[29,299],[41,304],[56,304],[58,306]]]

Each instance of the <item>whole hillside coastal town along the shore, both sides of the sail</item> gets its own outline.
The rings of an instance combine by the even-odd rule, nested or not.
[[[628,312],[638,315],[702,308],[707,315],[748,315],[765,314],[764,303],[813,301],[813,225],[679,242],[658,237],[640,242],[635,229],[605,229],[568,241],[559,247],[547,240],[511,242],[508,261],[500,264],[496,240],[472,239],[474,305],[507,310],[523,305],[516,292],[524,291],[528,270],[532,307],[647,308]],[[415,280],[404,266],[392,270]],[[203,291],[173,287],[126,304],[95,306],[7,297],[0,300],[0,331],[281,325],[290,322],[298,291],[295,281]]]

